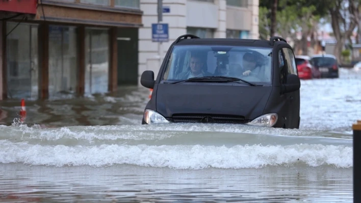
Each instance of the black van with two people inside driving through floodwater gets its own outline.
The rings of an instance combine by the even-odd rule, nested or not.
[[[201,39],[182,35],[154,80],[142,124],[231,123],[299,128],[300,79],[291,46],[268,40]]]

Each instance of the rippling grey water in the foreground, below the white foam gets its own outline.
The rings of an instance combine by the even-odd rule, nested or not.
[[[16,197],[46,202],[350,202],[351,170],[268,167],[191,171],[130,165],[57,168],[0,164],[0,190],[3,200]]]

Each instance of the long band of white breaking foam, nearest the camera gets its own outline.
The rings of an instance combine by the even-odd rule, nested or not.
[[[352,147],[322,144],[290,146],[137,146],[103,144],[101,146],[41,146],[27,142],[0,140],[0,163],[24,163],[48,166],[109,166],[134,164],[173,169],[261,168],[266,166],[353,165]]]

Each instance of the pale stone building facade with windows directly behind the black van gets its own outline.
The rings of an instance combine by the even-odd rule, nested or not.
[[[157,0],[141,0],[143,27],[139,28],[138,81],[145,70],[157,75],[170,44],[179,36],[259,39],[259,0],[163,0],[169,8],[169,41],[152,42],[151,24],[158,22]],[[140,82],[138,82],[140,85]]]

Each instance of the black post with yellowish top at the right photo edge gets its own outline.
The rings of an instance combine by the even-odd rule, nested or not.
[[[361,120],[352,125],[353,130],[353,202],[361,202]]]

